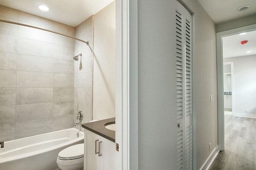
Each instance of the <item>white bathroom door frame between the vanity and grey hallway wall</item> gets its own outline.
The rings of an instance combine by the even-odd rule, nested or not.
[[[137,0],[116,0],[116,143],[116,170],[138,170]]]

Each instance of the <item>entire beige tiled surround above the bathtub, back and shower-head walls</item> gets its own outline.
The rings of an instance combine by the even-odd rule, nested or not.
[[[89,29],[84,24],[75,33],[74,27],[4,6],[0,6],[0,19],[82,39],[87,37],[81,31]],[[83,46],[62,35],[0,22],[0,140],[73,127],[78,109],[91,119],[87,113],[92,113],[92,84],[84,81],[92,77],[92,62]],[[83,70],[77,69],[74,52],[83,53]]]

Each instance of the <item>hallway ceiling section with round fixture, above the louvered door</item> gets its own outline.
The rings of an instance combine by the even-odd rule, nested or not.
[[[198,0],[214,23],[222,23],[250,15],[256,15],[256,0]],[[250,5],[248,10],[239,12],[241,6]]]

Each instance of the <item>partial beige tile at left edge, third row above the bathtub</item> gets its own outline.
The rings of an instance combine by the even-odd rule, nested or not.
[[[0,106],[15,105],[16,88],[0,88]]]

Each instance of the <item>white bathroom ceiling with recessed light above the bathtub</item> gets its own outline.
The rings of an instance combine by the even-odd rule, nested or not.
[[[0,0],[0,5],[76,27],[114,0]],[[43,12],[39,4],[50,8]]]

